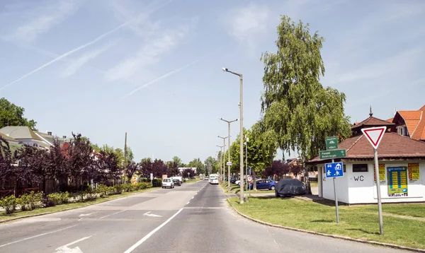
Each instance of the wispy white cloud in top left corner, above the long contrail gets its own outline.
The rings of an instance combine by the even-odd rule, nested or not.
[[[31,18],[28,23],[16,28],[15,32],[8,35],[8,39],[20,42],[32,42],[39,35],[47,33],[51,28],[59,25],[76,10],[74,1],[55,1],[55,4],[49,4],[38,8],[40,13]]]

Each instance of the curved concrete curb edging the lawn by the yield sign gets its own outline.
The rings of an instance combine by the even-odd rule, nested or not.
[[[290,227],[285,227],[283,225],[276,225],[276,224],[272,224],[272,223],[267,223],[267,222],[265,222],[263,220],[257,220],[257,219],[251,218],[249,216],[246,216],[244,213],[241,213],[241,212],[237,211],[237,209],[234,208],[233,204],[230,203],[229,199],[227,199],[227,203],[229,203],[229,205],[232,206],[233,210],[236,211],[240,216],[242,216],[244,218],[247,218],[249,220],[255,221],[256,223],[260,223],[260,224],[263,224],[263,225],[268,225],[270,227],[283,228],[283,229],[286,229],[286,230],[293,230],[293,231],[297,231],[297,232],[301,232],[301,233],[309,233],[309,234],[312,234],[312,235],[322,235],[322,236],[326,236],[326,237],[332,237],[332,238],[347,240],[347,241],[351,241],[351,242],[361,242],[361,243],[370,244],[370,245],[378,245],[378,246],[383,246],[383,247],[391,247],[393,249],[404,249],[404,250],[409,250],[411,252],[425,253],[425,249],[416,249],[416,248],[411,248],[411,247],[404,247],[404,246],[399,246],[399,245],[392,245],[390,243],[385,243],[385,242],[375,242],[375,241],[367,241],[367,240],[361,240],[361,239],[354,239],[354,238],[351,238],[351,237],[345,237],[345,236],[341,236],[341,235],[329,235],[329,234],[314,232],[314,231],[310,231],[310,230],[303,230],[303,229],[300,229],[300,228],[290,228]]]

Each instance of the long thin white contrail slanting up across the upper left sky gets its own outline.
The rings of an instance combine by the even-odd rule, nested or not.
[[[173,0],[167,1],[165,4],[162,4],[161,6],[159,6],[154,11],[157,11],[159,8],[162,8],[162,7],[166,6],[167,4],[171,3],[171,1],[173,1]],[[152,12],[154,12],[154,11],[152,11]],[[151,13],[149,13],[149,14],[151,14]],[[45,67],[49,66],[50,64],[54,64],[56,61],[59,61],[60,59],[63,59],[64,57],[67,57],[69,54],[74,54],[75,52],[78,52],[79,50],[84,49],[85,47],[89,47],[89,45],[92,45],[92,44],[98,42],[99,40],[102,40],[103,37],[106,37],[106,36],[110,35],[111,33],[114,33],[116,30],[120,30],[125,25],[128,25],[128,23],[130,23],[131,21],[132,21],[132,19],[126,21],[125,23],[122,23],[121,25],[118,25],[116,28],[113,28],[112,30],[109,30],[106,33],[103,33],[102,35],[96,37],[94,40],[91,40],[90,42],[87,42],[84,45],[81,45],[79,47],[76,47],[76,48],[74,48],[74,49],[72,49],[72,50],[70,50],[70,51],[68,51],[68,52],[66,52],[64,54],[61,54],[60,56],[56,57],[55,59],[52,59],[51,61],[48,61],[47,63],[42,64],[37,69],[34,69],[33,71],[30,71],[30,72],[26,73],[25,75],[21,76],[20,78],[16,79],[15,81],[11,81],[11,83],[8,83],[5,86],[1,87],[0,90],[4,90],[8,86],[13,85],[13,83],[17,83],[18,81],[21,81],[22,79],[27,78],[28,76],[32,75],[33,73],[35,73],[37,71],[40,71],[41,69],[44,69]]]

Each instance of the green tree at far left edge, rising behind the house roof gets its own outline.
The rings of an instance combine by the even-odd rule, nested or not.
[[[23,107],[18,107],[6,98],[0,98],[0,129],[6,126],[25,126],[37,130],[35,129],[37,122],[23,117],[24,112]]]

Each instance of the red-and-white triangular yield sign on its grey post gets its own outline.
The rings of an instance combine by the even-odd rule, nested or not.
[[[373,155],[375,156],[375,176],[376,176],[376,194],[378,195],[378,213],[379,213],[379,231],[380,235],[384,235],[384,223],[382,221],[382,203],[380,196],[380,180],[378,167],[378,146],[384,136],[387,127],[370,127],[361,129],[363,135],[373,146]]]

